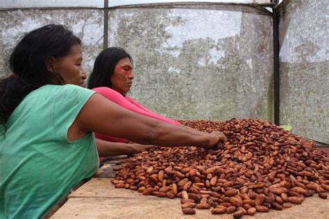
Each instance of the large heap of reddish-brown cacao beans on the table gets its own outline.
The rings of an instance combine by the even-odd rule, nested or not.
[[[221,149],[187,147],[143,151],[123,161],[115,188],[181,198],[185,214],[211,209],[235,218],[301,204],[318,193],[327,198],[329,155],[312,141],[254,119],[180,121],[226,134]]]

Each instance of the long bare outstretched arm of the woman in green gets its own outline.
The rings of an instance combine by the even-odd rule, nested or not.
[[[142,144],[158,146],[199,146],[212,148],[226,141],[222,132],[210,134],[151,119],[124,109],[94,94],[71,125],[68,138],[78,139],[87,132],[108,134]]]

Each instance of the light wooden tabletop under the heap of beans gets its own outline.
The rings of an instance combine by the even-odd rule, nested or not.
[[[112,159],[94,177],[68,196],[67,202],[51,218],[233,218],[232,214],[212,215],[210,210],[196,209],[194,216],[185,216],[180,199],[142,195],[128,189],[115,189],[110,182],[115,176]],[[306,198],[301,205],[283,211],[270,210],[244,218],[329,218],[329,199],[317,195]]]

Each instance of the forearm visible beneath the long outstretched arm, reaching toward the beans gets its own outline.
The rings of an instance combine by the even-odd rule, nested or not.
[[[119,143],[111,141],[103,141],[96,139],[96,146],[101,157],[112,157],[119,155],[133,155],[142,150],[157,148],[158,146],[142,145],[138,143]]]

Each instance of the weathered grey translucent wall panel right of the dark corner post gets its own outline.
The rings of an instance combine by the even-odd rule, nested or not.
[[[280,123],[329,143],[329,1],[280,6]]]

